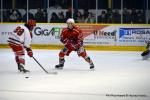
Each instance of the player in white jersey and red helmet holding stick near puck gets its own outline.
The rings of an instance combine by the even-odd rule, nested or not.
[[[29,72],[24,68],[25,66],[25,50],[29,57],[33,56],[32,49],[30,47],[32,39],[32,30],[36,26],[35,20],[28,20],[24,25],[19,25],[13,30],[13,33],[9,35],[8,43],[15,53],[16,63],[20,72]]]

